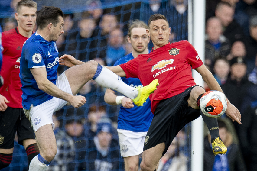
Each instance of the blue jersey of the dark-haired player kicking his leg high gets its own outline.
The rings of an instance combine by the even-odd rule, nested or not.
[[[22,90],[22,106],[29,109],[53,98],[38,89],[30,69],[45,67],[47,79],[56,85],[57,67],[59,65],[58,50],[55,42],[48,42],[41,35],[34,33],[25,41],[21,51],[20,79]]]

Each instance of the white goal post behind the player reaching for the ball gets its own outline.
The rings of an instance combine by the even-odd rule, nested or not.
[[[204,62],[205,0],[188,0],[188,40]],[[203,86],[203,79],[193,70],[197,85]],[[203,171],[203,119],[191,123],[191,171]]]

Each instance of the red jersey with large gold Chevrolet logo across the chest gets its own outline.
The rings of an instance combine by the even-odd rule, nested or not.
[[[196,50],[188,41],[168,43],[149,54],[138,55],[135,59],[121,64],[127,78],[139,78],[142,85],[159,79],[160,85],[150,95],[151,111],[162,99],[173,97],[196,85],[192,69],[203,65]]]

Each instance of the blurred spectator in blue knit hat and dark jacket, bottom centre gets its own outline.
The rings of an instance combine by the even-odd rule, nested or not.
[[[78,143],[78,151],[83,152],[78,170],[111,171],[122,168],[119,144],[118,140],[113,139],[110,119],[101,118],[97,123],[96,136],[85,145]]]

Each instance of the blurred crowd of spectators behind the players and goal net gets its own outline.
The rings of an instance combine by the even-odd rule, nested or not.
[[[9,10],[15,11],[17,1],[9,2]],[[113,8],[104,8],[100,0],[87,0],[85,3],[90,10],[66,13],[64,16],[64,34],[56,42],[59,56],[70,54],[78,60],[96,60],[101,65],[112,66],[116,60],[132,51],[127,41],[126,24],[129,20],[140,19],[147,23],[150,15],[155,13],[167,17],[171,27],[170,42],[188,39],[187,0],[142,1],[134,4],[136,9],[140,9],[139,12],[130,11],[126,15]],[[2,31],[16,26],[13,16],[2,18]],[[34,31],[36,30],[35,27]],[[223,120],[219,121],[219,126],[225,135],[221,138],[228,147],[228,152],[226,157],[214,157],[209,153],[211,146],[207,135],[204,139],[204,161],[213,165],[210,167],[205,164],[204,170],[218,171],[228,167],[230,171],[255,170],[257,1],[206,0],[205,31],[205,56],[201,58],[205,58],[207,68],[213,73],[230,102],[241,112],[242,125],[232,123],[225,114],[219,118]],[[150,50],[151,45],[150,42]],[[65,69],[67,68],[59,66],[58,74]],[[206,91],[210,90],[207,86],[204,88]],[[104,102],[104,93],[105,88],[90,80],[79,92],[87,100],[83,107],[73,108],[67,104],[54,114],[57,155],[48,171],[90,170],[93,167],[101,171],[124,170],[116,129],[120,106],[107,105]],[[158,170],[190,170],[190,161],[181,162],[184,158],[190,159],[188,127],[190,126],[186,126],[174,139],[167,154],[160,160]],[[17,160],[13,160],[3,170],[27,169],[27,158],[21,157],[26,156],[26,152],[18,144],[15,144],[14,159],[15,154]],[[221,161],[225,161],[225,164],[222,165]],[[180,169],[176,165],[181,166]],[[217,168],[221,165],[223,168]]]

